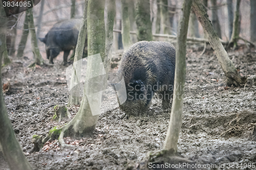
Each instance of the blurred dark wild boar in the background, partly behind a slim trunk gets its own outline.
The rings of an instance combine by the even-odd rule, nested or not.
[[[39,38],[46,44],[46,55],[49,63],[53,64],[53,59],[63,51],[63,65],[68,63],[68,56],[74,50],[77,43],[81,19],[69,19],[55,23],[45,38]],[[84,43],[84,53],[86,53],[87,38]],[[83,55],[84,56],[84,55]]]

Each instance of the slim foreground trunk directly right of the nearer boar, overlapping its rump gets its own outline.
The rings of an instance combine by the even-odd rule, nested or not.
[[[177,153],[177,143],[182,124],[184,84],[186,78],[186,39],[188,30],[189,14],[193,0],[184,0],[182,14],[178,26],[178,38],[176,49],[176,64],[174,78],[174,97],[170,122],[165,137],[163,150]]]

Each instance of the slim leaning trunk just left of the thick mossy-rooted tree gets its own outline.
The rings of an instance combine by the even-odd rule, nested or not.
[[[84,3],[84,10],[82,16],[82,22],[79,29],[75,58],[72,68],[72,76],[70,82],[70,95],[68,107],[72,105],[80,105],[80,76],[81,76],[81,65],[82,65],[82,54],[84,48],[84,42],[86,41],[87,34],[87,7],[88,0]]]

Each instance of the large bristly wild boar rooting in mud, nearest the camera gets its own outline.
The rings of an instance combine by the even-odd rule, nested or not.
[[[162,109],[168,109],[173,97],[175,54],[172,44],[161,41],[137,42],[123,54],[117,75],[124,79],[127,99],[121,110],[135,116],[146,113],[155,92]]]

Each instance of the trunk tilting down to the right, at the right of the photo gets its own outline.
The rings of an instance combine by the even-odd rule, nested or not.
[[[194,0],[193,10],[197,15],[197,19],[203,26],[204,33],[209,40],[211,47],[214,49],[216,56],[221,64],[222,70],[227,78],[227,85],[237,85],[243,84],[241,76],[238,74],[236,67],[234,67],[233,62],[229,59],[227,52],[225,51],[216,31],[211,25],[206,11],[203,8],[203,4],[200,0]]]

